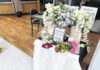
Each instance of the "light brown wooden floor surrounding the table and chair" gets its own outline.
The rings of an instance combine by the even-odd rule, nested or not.
[[[3,37],[17,48],[20,48],[30,56],[33,55],[33,42],[37,39],[37,26],[34,25],[34,36],[31,36],[30,16],[25,15],[21,18],[16,16],[1,16],[0,19],[0,37]],[[97,45],[100,39],[99,34],[89,33],[89,43]],[[91,55],[88,56],[88,61],[94,53],[95,48],[91,48]],[[86,62],[87,59],[85,59]]]

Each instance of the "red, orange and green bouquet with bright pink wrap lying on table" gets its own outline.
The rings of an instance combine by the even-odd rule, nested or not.
[[[59,42],[59,44],[55,47],[56,52],[70,52],[76,53],[77,50],[77,43],[74,41],[67,41],[67,42]]]

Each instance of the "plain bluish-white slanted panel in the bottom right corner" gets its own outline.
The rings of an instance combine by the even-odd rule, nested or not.
[[[93,55],[92,61],[88,70],[100,70],[100,40]]]

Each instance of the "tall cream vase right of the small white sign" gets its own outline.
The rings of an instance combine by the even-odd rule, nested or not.
[[[81,29],[78,29],[76,26],[72,26],[70,37],[73,38],[73,41],[79,44],[81,40],[81,36],[82,36]]]

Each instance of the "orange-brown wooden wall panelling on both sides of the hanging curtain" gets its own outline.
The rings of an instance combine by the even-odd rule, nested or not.
[[[23,6],[23,13],[29,13],[31,8],[35,8],[38,11],[40,10],[39,7],[39,1],[35,1],[35,2],[23,2],[22,6]],[[8,2],[8,3],[0,3],[0,14],[14,14],[14,10],[12,7],[12,3]]]

